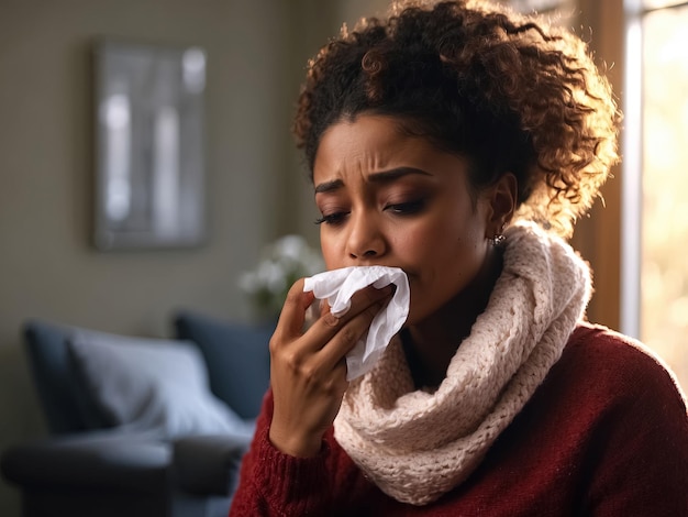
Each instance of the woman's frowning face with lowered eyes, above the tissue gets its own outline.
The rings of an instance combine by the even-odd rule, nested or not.
[[[495,234],[489,195],[471,200],[465,160],[410,136],[393,118],[329,128],[313,166],[328,270],[401,267],[408,323],[435,314],[476,277]]]

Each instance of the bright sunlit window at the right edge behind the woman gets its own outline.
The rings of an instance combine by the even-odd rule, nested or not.
[[[622,330],[656,350],[686,387],[688,2],[626,0],[625,10]]]

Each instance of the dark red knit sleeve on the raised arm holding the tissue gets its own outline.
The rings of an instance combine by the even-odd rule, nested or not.
[[[268,392],[253,443],[242,462],[230,517],[326,515],[331,493],[326,472],[329,444],[323,441],[314,458],[285,454],[268,438],[271,417],[273,394]]]

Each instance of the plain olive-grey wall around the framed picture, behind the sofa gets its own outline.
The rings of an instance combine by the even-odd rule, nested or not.
[[[168,336],[176,308],[246,319],[236,277],[299,230],[304,182],[289,134],[309,38],[329,8],[301,0],[0,0],[0,451],[44,435],[24,358],[26,318]],[[302,30],[304,23],[310,23]],[[209,242],[99,253],[89,244],[89,45],[110,35],[208,53]],[[298,178],[298,179],[297,179]],[[296,221],[296,222],[293,222]],[[0,515],[19,515],[0,483]]]

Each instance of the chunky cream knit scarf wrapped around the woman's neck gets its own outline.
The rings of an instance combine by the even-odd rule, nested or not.
[[[391,497],[425,505],[480,463],[559,359],[591,294],[587,264],[532,223],[506,232],[503,272],[436,392],[415,391],[399,339],[354,381],[334,422]]]

